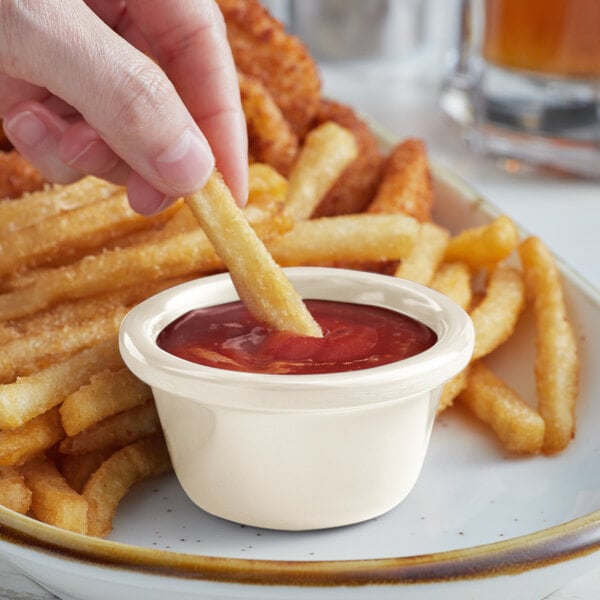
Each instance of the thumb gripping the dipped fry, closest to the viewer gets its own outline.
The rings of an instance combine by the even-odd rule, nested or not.
[[[31,39],[38,40],[35,48]],[[212,152],[173,85],[84,4],[8,3],[0,20],[0,56],[7,55],[19,61],[5,64],[5,72],[48,88],[76,108],[163,194],[188,195],[208,179]]]

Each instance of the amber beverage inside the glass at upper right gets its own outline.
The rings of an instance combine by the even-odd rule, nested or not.
[[[483,57],[566,77],[600,76],[600,1],[486,0]]]

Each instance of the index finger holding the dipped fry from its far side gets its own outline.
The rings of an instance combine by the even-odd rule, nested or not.
[[[129,0],[153,55],[205,134],[236,200],[247,196],[247,129],[225,24],[210,0]]]

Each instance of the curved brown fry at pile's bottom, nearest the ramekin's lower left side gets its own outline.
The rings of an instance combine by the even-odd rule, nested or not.
[[[161,435],[145,438],[117,450],[90,477],[82,492],[90,506],[87,528],[89,535],[108,535],[112,530],[117,506],[131,487],[170,470],[169,454]]]

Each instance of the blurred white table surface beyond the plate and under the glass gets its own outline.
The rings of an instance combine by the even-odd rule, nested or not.
[[[473,156],[437,109],[431,57],[390,65],[323,65],[324,92],[369,115],[399,138],[423,138],[435,162],[459,173],[519,225],[539,235],[568,265],[600,288],[600,180],[509,175]],[[76,591],[73,591],[74,595]],[[0,599],[48,600],[52,594],[20,575],[0,556]],[[600,598],[598,568],[547,600]]]

